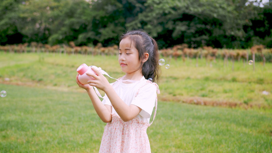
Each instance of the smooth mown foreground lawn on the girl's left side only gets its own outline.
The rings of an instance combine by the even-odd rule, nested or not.
[[[84,93],[0,85],[0,152],[98,152],[105,123]]]

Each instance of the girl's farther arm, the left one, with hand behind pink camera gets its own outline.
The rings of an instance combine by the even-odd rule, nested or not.
[[[94,107],[94,110],[96,111],[97,115],[101,118],[101,120],[103,122],[110,122],[111,121],[111,111],[112,111],[112,107],[109,105],[104,105],[102,103],[102,101],[100,100],[100,98],[96,95],[93,87],[91,87],[90,85],[82,85],[79,80],[78,80],[78,76],[77,75],[77,84],[79,85],[79,87],[85,89],[92,101],[92,105]]]

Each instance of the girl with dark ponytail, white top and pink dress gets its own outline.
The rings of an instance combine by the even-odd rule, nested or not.
[[[152,83],[159,78],[157,43],[140,30],[123,34],[118,61],[126,74],[112,84],[93,67],[97,75],[88,74],[95,80],[87,85],[80,84],[77,75],[78,85],[87,91],[96,113],[107,123],[100,152],[151,152],[146,129],[156,105],[155,118],[159,94],[158,85]],[[105,92],[102,103],[92,86]]]

